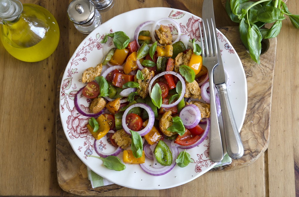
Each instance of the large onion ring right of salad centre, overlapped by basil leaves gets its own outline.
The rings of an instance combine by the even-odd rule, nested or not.
[[[185,84],[185,81],[183,79],[183,77],[174,72],[174,71],[165,71],[165,72],[161,72],[160,74],[157,74],[156,76],[154,76],[154,78],[152,78],[152,81],[149,83],[149,95],[151,95],[152,93],[152,84],[153,82],[160,76],[163,76],[165,74],[172,74],[176,77],[179,78],[179,80],[182,82],[182,92],[181,92],[181,96],[178,98],[178,100],[172,104],[169,104],[169,105],[166,105],[166,104],[161,104],[161,107],[164,107],[164,108],[169,108],[169,107],[173,107],[173,106],[176,106],[177,104],[179,104],[179,102],[184,98],[184,94],[185,94],[185,91],[186,91],[186,84]]]

